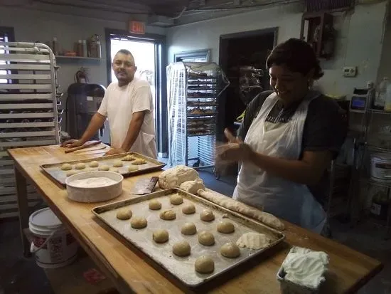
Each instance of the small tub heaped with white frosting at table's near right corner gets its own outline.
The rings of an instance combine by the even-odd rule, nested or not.
[[[328,255],[293,247],[277,273],[282,294],[317,294],[325,280]]]

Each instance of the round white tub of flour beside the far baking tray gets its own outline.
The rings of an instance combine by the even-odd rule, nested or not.
[[[80,172],[65,180],[68,198],[77,202],[101,202],[122,194],[124,177],[117,172]]]

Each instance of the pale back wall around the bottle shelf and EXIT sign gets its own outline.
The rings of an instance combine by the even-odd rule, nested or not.
[[[127,21],[105,21],[83,16],[71,16],[29,9],[11,9],[0,6],[0,26],[12,26],[15,30],[16,41],[51,41],[58,38],[59,45],[68,50],[73,49],[73,43],[97,34],[102,41],[102,60],[99,61],[64,61],[58,59],[61,66],[58,70],[60,90],[65,93],[73,82],[73,76],[81,67],[89,70],[90,83],[107,86],[105,28],[127,30]],[[164,35],[165,29],[146,27],[147,33]]]

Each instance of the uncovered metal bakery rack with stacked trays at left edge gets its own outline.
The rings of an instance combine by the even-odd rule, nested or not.
[[[14,162],[7,149],[59,142],[55,56],[41,43],[0,42],[0,219],[18,216]],[[41,196],[28,184],[28,205]]]

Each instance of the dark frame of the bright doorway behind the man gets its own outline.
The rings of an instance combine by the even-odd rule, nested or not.
[[[111,56],[111,39],[112,36],[123,36],[129,38],[129,41],[149,41],[154,42],[156,46],[155,60],[156,64],[155,83],[156,83],[156,143],[159,154],[164,155],[168,152],[168,125],[167,125],[167,91],[166,91],[166,36],[154,33],[138,35],[129,33],[129,31],[105,28],[106,41],[106,65],[107,65],[107,85],[111,83],[112,56]],[[160,57],[160,58],[159,58]]]

